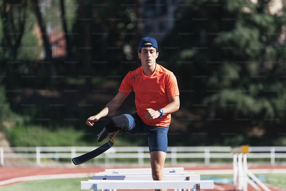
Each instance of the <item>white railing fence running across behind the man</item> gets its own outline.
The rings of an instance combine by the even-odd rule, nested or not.
[[[97,147],[0,147],[0,164],[11,163],[13,159],[35,161],[37,165],[41,165],[43,161],[51,162],[53,160],[58,161],[59,159],[69,161],[68,159],[80,156],[96,148]],[[143,165],[144,159],[148,158],[150,158],[148,147],[114,146],[93,160],[96,165],[99,162],[112,164],[116,163],[118,159],[133,159],[138,165]],[[180,162],[193,162],[208,165],[212,161],[217,163],[232,163],[232,158],[233,154],[229,146],[168,147],[166,163],[175,165]],[[277,164],[275,160],[278,158],[286,158],[286,146],[250,147],[250,153],[247,154],[247,158],[257,161],[263,159],[264,162],[269,162],[271,165],[274,165]],[[72,164],[72,162],[70,163]]]

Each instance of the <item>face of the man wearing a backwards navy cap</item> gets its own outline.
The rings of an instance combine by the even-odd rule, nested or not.
[[[145,43],[151,44],[151,43]],[[159,52],[156,53],[156,48],[154,47],[143,47],[141,53],[138,53],[138,57],[141,59],[142,65],[152,66],[156,63],[156,58]]]

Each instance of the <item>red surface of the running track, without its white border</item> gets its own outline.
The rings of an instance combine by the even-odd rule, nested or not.
[[[168,167],[168,166],[166,166]],[[111,167],[116,168],[116,167]],[[130,168],[130,167],[118,167],[118,168]],[[140,167],[134,167],[134,168],[140,168]],[[96,172],[102,172],[105,168],[98,168],[98,167],[74,167],[74,168],[40,168],[40,167],[0,167],[0,183],[1,181],[10,180],[17,177],[26,177],[26,176],[47,176],[47,175],[54,175],[54,174],[77,174],[77,173],[96,173]],[[184,167],[185,170],[190,171],[196,171],[199,172],[200,170],[225,170],[225,169],[232,169],[232,166],[195,166],[195,167]],[[255,167],[249,167],[249,169],[269,169],[276,170],[276,169],[285,169],[284,173],[286,172],[286,166],[255,166]],[[197,173],[195,173],[197,174]],[[44,177],[43,177],[44,178]],[[76,177],[73,177],[76,178]],[[92,179],[92,177],[90,177]],[[83,180],[86,180],[83,178]],[[1,187],[0,187],[1,188]],[[80,185],[79,185],[80,188]],[[233,190],[232,185],[215,185],[215,189],[212,191],[222,190],[221,188],[224,188],[225,190]],[[286,190],[282,188],[276,188],[276,187],[270,187],[272,191],[281,191]],[[249,191],[253,190],[251,186],[249,186]],[[119,190],[118,190],[119,191]],[[146,190],[147,191],[147,190]]]

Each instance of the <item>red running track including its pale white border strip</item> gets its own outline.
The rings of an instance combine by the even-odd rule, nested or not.
[[[166,166],[169,167],[169,166]],[[184,167],[184,166],[180,166]],[[47,167],[3,167],[0,166],[0,190],[1,186],[7,186],[9,184],[15,184],[18,182],[29,180],[43,180],[43,179],[58,179],[58,178],[83,178],[91,177],[96,172],[102,172],[106,169],[98,167],[79,167],[74,168],[47,168]],[[116,168],[116,167],[111,167]],[[118,167],[118,168],[130,168],[130,167]],[[134,167],[141,168],[141,167]],[[146,167],[150,168],[150,167]],[[232,174],[232,166],[192,166],[184,167],[185,170],[194,172],[194,174]],[[286,173],[286,166],[254,166],[249,167],[249,170],[256,173]],[[269,186],[269,185],[268,185]],[[275,186],[269,187],[272,191],[285,191],[286,189],[278,188]],[[80,190],[80,185],[79,185]],[[212,191],[233,190],[232,185],[215,184],[215,189]],[[253,190],[249,186],[248,190]],[[147,190],[146,190],[147,191]],[[205,190],[206,191],[206,190]]]

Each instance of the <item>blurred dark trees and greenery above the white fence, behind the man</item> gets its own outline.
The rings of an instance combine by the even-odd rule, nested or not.
[[[142,37],[174,72],[169,146],[286,146],[285,0],[0,0],[0,146],[99,146]],[[116,146],[147,146],[121,133]]]

